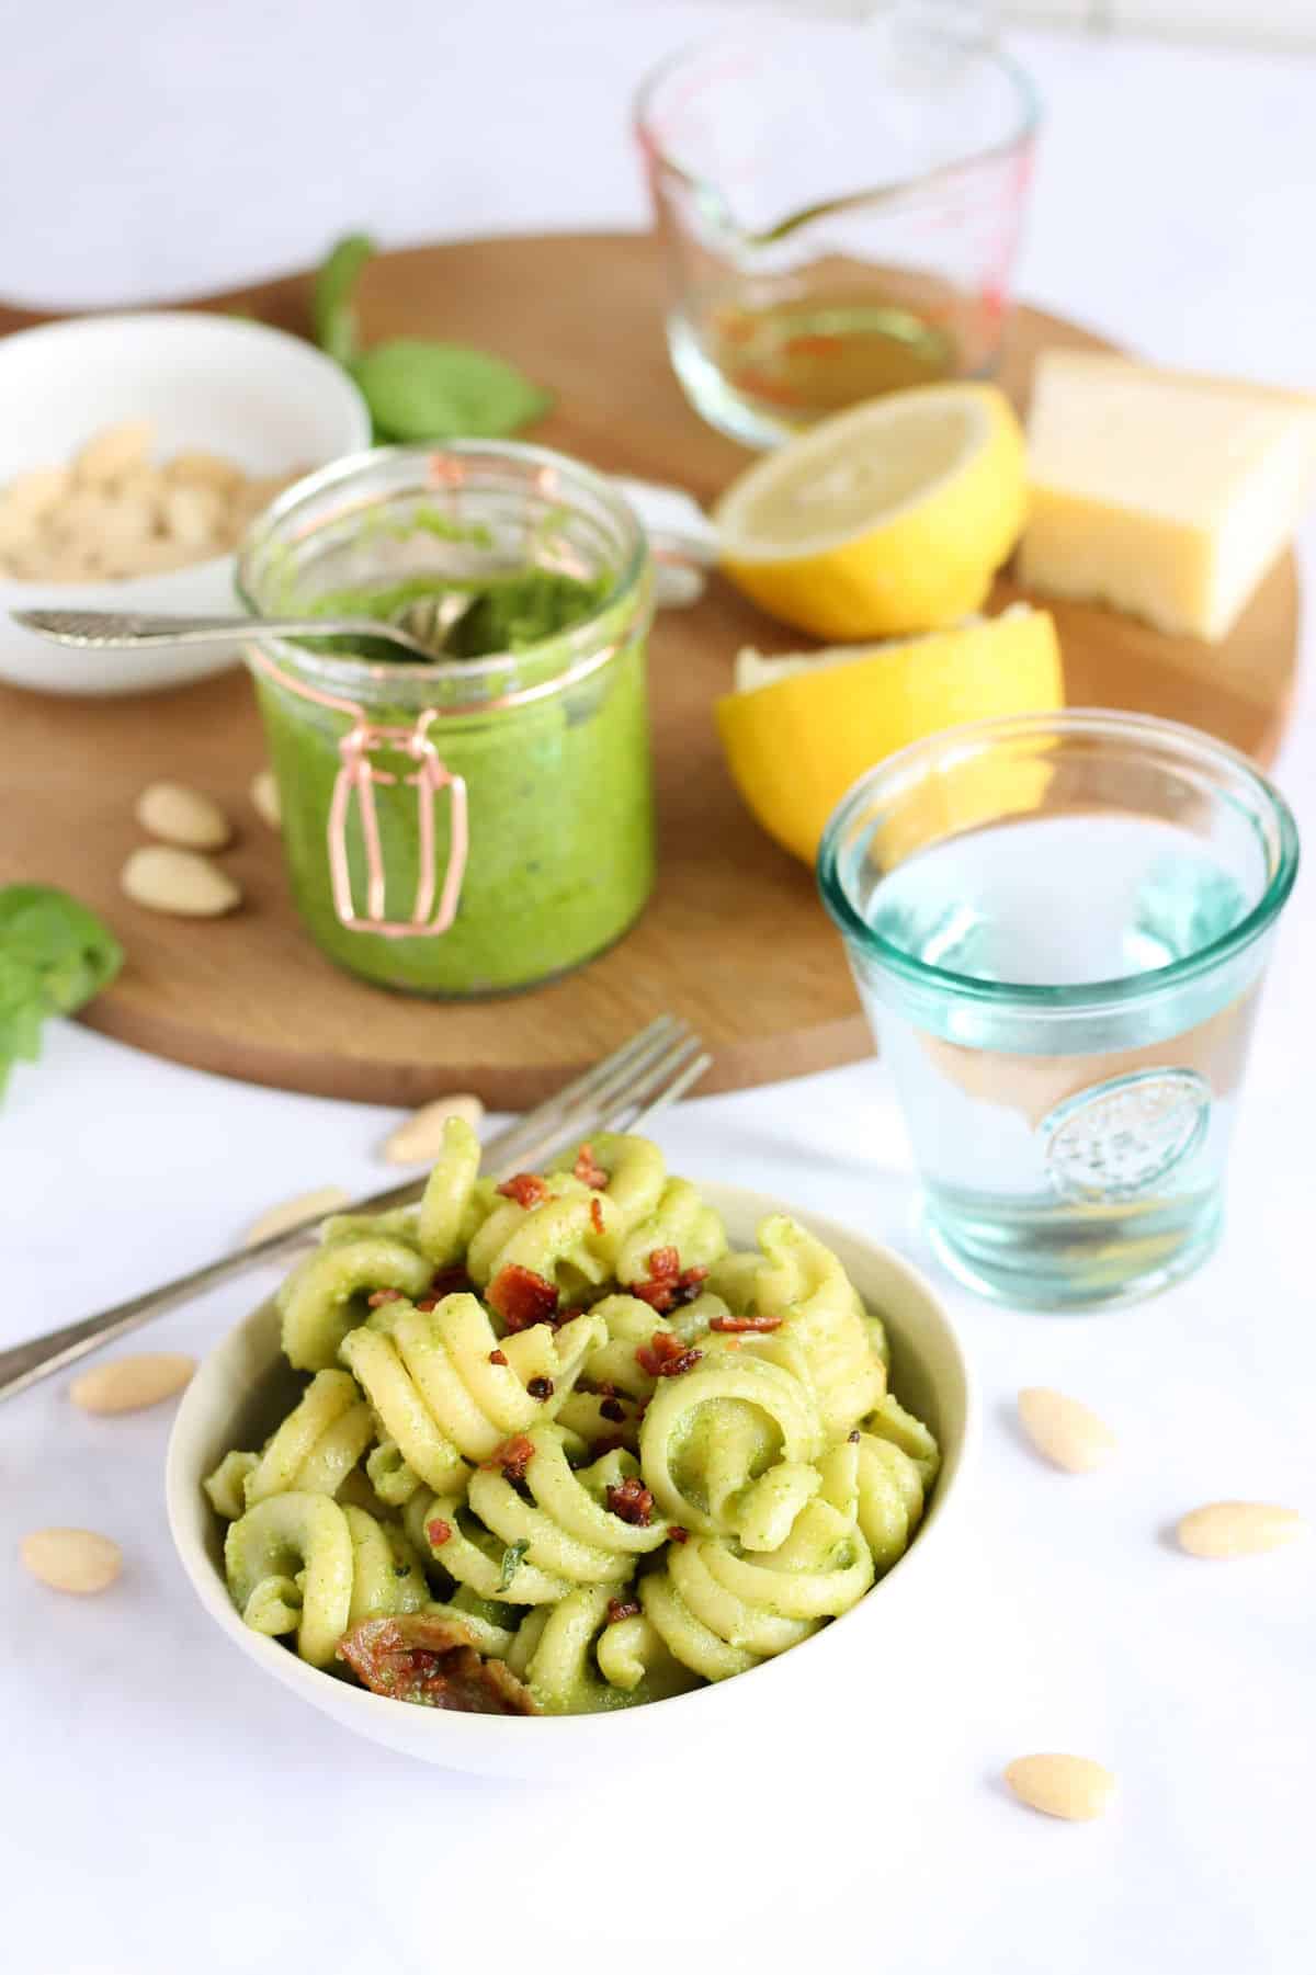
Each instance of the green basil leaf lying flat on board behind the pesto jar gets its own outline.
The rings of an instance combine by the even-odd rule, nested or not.
[[[352,363],[370,415],[391,438],[502,438],[553,403],[512,363],[464,344],[395,336]]]

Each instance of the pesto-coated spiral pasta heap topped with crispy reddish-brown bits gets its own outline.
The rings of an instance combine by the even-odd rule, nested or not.
[[[727,1250],[648,1140],[336,1217],[279,1292],[306,1373],[206,1493],[245,1621],[397,1698],[593,1712],[721,1681],[848,1612],[913,1540],[931,1430],[879,1315],[798,1223]]]

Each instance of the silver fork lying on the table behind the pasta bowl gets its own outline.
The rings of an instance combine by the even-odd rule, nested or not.
[[[557,1096],[526,1112],[506,1132],[498,1132],[484,1146],[480,1163],[496,1179],[508,1179],[512,1173],[543,1171],[553,1157],[567,1151],[577,1140],[589,1138],[591,1132],[634,1132],[684,1096],[703,1076],[711,1061],[690,1023],[676,1015],[658,1015],[656,1021],[615,1049],[611,1057],[595,1063]],[[383,1193],[354,1201],[342,1211],[381,1215],[389,1207],[409,1207],[419,1201],[423,1191],[423,1179],[407,1179],[399,1187],[385,1187]],[[158,1290],[132,1296],[126,1304],[115,1304],[113,1309],[101,1309],[95,1317],[83,1317],[81,1323],[69,1323],[61,1331],[47,1331],[45,1337],[34,1337],[26,1345],[0,1351],[0,1398],[14,1398],[16,1392],[40,1379],[49,1379],[65,1365],[77,1365],[101,1345],[113,1343],[115,1337],[126,1337],[138,1325],[150,1323],[152,1317],[164,1315],[166,1309],[174,1309],[221,1282],[245,1276],[265,1262],[281,1260],[300,1248],[322,1221],[324,1215],[314,1215],[281,1234],[253,1242],[251,1248],[239,1248],[219,1256],[217,1262],[206,1262]]]

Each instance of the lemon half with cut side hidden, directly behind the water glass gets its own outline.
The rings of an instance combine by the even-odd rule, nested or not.
[[[745,650],[735,685],[717,701],[731,778],[769,835],[810,863],[840,798],[885,754],[960,721],[1065,703],[1055,624],[1031,604],[812,658]]]

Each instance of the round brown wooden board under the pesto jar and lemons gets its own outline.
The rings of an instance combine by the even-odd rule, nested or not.
[[[290,276],[198,306],[245,308],[300,332],[306,292],[306,278]],[[381,255],[362,284],[370,338],[429,332],[496,350],[557,393],[535,440],[709,502],[747,454],[686,405],[668,367],[664,302],[660,249],[638,235],[417,247]],[[0,330],[36,320],[0,310]],[[1020,405],[1043,344],[1099,338],[1020,308],[1004,367]],[[1002,581],[994,606],[1012,594]],[[1101,608],[1049,608],[1071,705],[1192,721],[1269,760],[1296,666],[1292,557],[1221,646],[1166,638]],[[871,1043],[812,873],[741,808],[713,731],[711,701],[747,642],[782,652],[800,640],[719,581],[696,608],[660,614],[650,660],[658,889],[620,946],[516,999],[417,1001],[368,988],[316,952],[294,918],[279,841],[247,800],[265,749],[245,672],[132,699],[0,687],[0,881],[65,885],[121,934],[128,960],[85,1011],[91,1027],[287,1090],[417,1104],[470,1088],[522,1108],[662,1009],[686,1015],[713,1051],[705,1090],[850,1063]],[[211,790],[235,818],[225,867],[245,905],[231,918],[162,918],[123,897],[119,871],[140,841],[132,804],[156,776]]]

